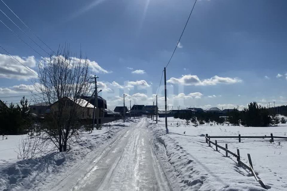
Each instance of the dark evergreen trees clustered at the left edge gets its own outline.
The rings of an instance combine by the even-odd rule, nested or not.
[[[0,134],[20,135],[30,131],[33,124],[28,100],[23,97],[20,104],[10,104],[0,112]]]

